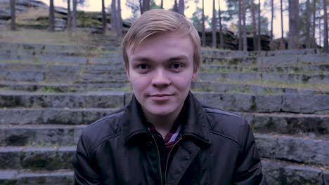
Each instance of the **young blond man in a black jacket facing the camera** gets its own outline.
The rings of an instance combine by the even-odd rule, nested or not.
[[[200,38],[171,11],[144,13],[123,41],[131,102],[84,130],[75,184],[264,184],[250,126],[190,92]]]

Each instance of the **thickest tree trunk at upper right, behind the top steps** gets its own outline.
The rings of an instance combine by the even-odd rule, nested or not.
[[[299,1],[289,2],[289,41],[288,48],[297,49],[299,45]]]

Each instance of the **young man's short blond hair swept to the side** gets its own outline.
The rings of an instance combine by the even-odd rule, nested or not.
[[[131,52],[134,52],[136,46],[149,36],[164,32],[180,32],[190,36],[194,45],[193,68],[197,70],[201,62],[201,41],[198,32],[193,24],[183,17],[183,15],[162,9],[153,9],[143,13],[131,25],[122,42],[125,67],[129,68],[127,48],[130,48]]]

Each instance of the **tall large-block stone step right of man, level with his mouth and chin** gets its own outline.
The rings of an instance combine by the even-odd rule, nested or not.
[[[281,112],[329,114],[329,95],[251,95],[247,93],[195,92],[200,102],[211,107],[238,112]],[[126,100],[129,100],[127,98]]]

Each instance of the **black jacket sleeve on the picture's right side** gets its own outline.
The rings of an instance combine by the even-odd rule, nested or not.
[[[243,126],[242,144],[234,184],[267,184],[262,174],[262,163],[254,142],[254,135],[246,121]]]

